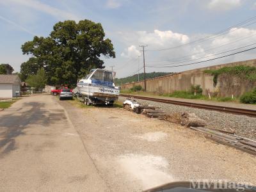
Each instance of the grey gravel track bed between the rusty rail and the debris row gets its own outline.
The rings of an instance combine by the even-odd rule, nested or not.
[[[119,97],[120,102],[124,102],[125,97]],[[223,129],[230,131],[230,129],[236,131],[239,136],[251,138],[256,140],[256,118],[245,115],[233,115],[230,113],[221,113],[218,111],[210,111],[205,109],[189,108],[186,106],[178,106],[174,104],[164,104],[161,102],[154,102],[150,100],[137,99],[142,104],[150,104],[163,109],[167,113],[180,113],[189,112],[195,113],[200,118],[206,120],[207,127],[213,129]]]

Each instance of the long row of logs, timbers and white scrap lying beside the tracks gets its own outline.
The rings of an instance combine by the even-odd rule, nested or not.
[[[206,128],[205,125],[207,124],[205,120],[196,116],[195,113],[166,114],[164,111],[161,111],[160,108],[142,105],[133,98],[126,99],[123,106],[125,109],[134,111],[138,114],[142,113],[143,115],[146,115],[150,118],[159,118],[190,127],[195,131],[204,133],[205,138],[210,138],[211,140],[214,140],[223,145],[235,147],[239,150],[243,150],[244,152],[248,152],[256,156],[256,141],[237,136],[235,131],[232,129],[230,129],[231,131],[226,131]]]

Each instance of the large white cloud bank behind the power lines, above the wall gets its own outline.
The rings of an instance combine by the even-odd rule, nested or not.
[[[127,58],[138,58],[138,45],[148,45],[145,52],[145,63],[151,66],[163,66],[172,65],[170,63],[180,62],[176,64],[181,65],[184,63],[192,63],[193,61],[204,61],[212,58],[217,58],[219,56],[224,56],[230,53],[239,52],[245,49],[250,49],[250,47],[244,47],[243,49],[237,49],[232,52],[232,49],[243,47],[245,45],[250,45],[256,43],[256,29],[248,28],[232,28],[227,34],[217,36],[216,38],[210,38],[204,42],[198,42],[196,44],[184,45],[177,47],[177,49],[167,49],[165,51],[150,51],[155,49],[165,49],[168,47],[176,47],[182,44],[187,44],[198,40],[198,38],[203,38],[204,36],[211,36],[212,34],[200,34],[200,35],[186,35],[182,33],[175,33],[173,31],[160,31],[155,30],[154,32],[148,31],[119,31],[120,41],[127,46],[124,52],[122,52],[122,60],[118,58],[118,63],[124,63]],[[136,47],[137,46],[137,47]],[[218,54],[220,52],[225,52],[224,54]],[[213,54],[218,54],[212,56]],[[204,58],[207,57],[207,58]],[[126,60],[125,60],[126,58]],[[216,65],[220,63],[227,63],[232,61],[243,61],[255,58],[253,51],[243,52],[241,54],[236,54],[233,56],[228,56],[226,58],[221,58],[220,60],[208,61],[205,63],[199,63],[196,65],[188,65],[183,67],[175,68],[147,68],[147,72],[154,71],[172,71],[179,72],[182,70],[189,70],[192,68],[206,67],[209,65]],[[187,61],[187,62],[183,62]],[[140,60],[140,66],[142,65],[142,59]],[[127,71],[136,71],[136,62],[118,69],[118,76],[127,75]],[[124,75],[122,75],[124,74]]]

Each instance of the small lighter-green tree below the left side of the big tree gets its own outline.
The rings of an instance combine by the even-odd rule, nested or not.
[[[36,90],[44,88],[46,81],[47,77],[44,68],[40,68],[35,75],[30,75],[28,79],[26,79],[26,83],[28,83],[29,86],[35,88]]]

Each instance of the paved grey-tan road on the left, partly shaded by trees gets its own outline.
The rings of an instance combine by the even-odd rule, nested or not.
[[[106,191],[65,110],[50,95],[0,112],[0,191]]]

